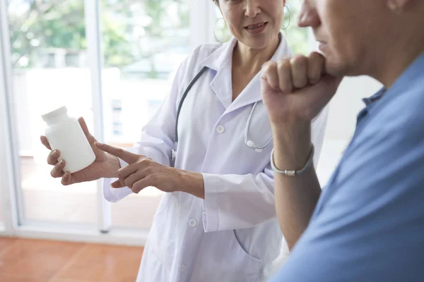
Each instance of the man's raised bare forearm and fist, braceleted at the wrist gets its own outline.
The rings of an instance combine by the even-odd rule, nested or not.
[[[325,58],[317,52],[264,64],[261,94],[278,170],[300,171],[307,165],[313,154],[311,122],[336,94],[341,79],[326,73]],[[291,249],[310,221],[321,188],[313,164],[301,175],[275,173],[274,179],[278,222]]]

